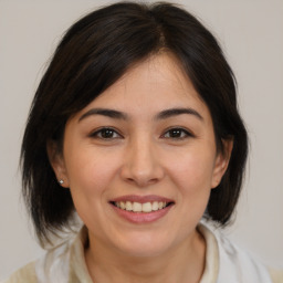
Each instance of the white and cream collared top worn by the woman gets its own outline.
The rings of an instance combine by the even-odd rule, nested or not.
[[[198,229],[207,243],[200,283],[283,283],[283,271],[269,270],[203,223]],[[86,241],[84,227],[76,238],[50,250],[3,283],[93,283],[84,259]]]

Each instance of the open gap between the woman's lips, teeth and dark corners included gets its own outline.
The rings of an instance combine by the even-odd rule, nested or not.
[[[135,213],[150,213],[158,210],[163,210],[172,206],[172,201],[147,201],[147,202],[138,202],[138,201],[111,201],[111,205],[119,208],[122,210],[126,210]]]

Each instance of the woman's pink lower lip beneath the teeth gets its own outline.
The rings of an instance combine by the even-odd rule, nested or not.
[[[113,205],[112,207],[122,218],[126,219],[132,223],[148,223],[157,221],[160,218],[165,217],[171,209],[172,205],[153,212],[133,212],[117,208]]]

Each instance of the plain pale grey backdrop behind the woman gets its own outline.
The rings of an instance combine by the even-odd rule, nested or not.
[[[239,84],[251,153],[224,232],[283,265],[283,1],[187,0],[220,41]],[[21,199],[19,153],[34,91],[63,32],[109,1],[0,0],[0,280],[42,254]]]

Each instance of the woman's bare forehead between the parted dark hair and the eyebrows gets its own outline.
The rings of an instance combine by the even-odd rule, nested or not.
[[[161,112],[171,107],[193,107],[208,114],[178,60],[170,53],[147,57],[132,66],[117,82],[84,109],[107,107],[133,115]]]

